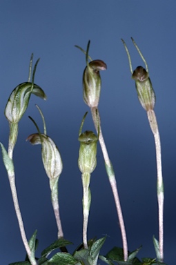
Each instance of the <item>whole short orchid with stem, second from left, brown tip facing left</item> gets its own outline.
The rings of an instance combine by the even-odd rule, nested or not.
[[[58,228],[58,238],[63,237],[63,230],[61,226],[61,219],[59,215],[59,199],[58,199],[58,181],[61,175],[63,164],[61,160],[61,155],[59,150],[54,141],[48,135],[46,135],[46,124],[45,119],[43,117],[43,113],[41,112],[40,108],[37,106],[41,117],[43,119],[43,128],[44,133],[40,133],[39,128],[35,121],[35,126],[37,127],[38,133],[34,133],[28,136],[27,140],[30,141],[31,144],[41,144],[41,157],[43,161],[43,166],[46,170],[46,175],[50,181],[50,190],[51,190],[51,200],[52,200],[52,207],[55,213],[55,219],[57,222]]]

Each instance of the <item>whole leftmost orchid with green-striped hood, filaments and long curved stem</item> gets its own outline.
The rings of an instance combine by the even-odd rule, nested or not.
[[[12,91],[8,103],[6,104],[5,108],[5,115],[6,118],[9,121],[10,124],[10,135],[9,135],[9,143],[8,143],[8,153],[6,152],[6,149],[3,147],[1,144],[1,149],[2,149],[2,154],[3,154],[3,163],[6,166],[6,170],[8,173],[8,179],[10,181],[10,188],[12,192],[12,199],[14,202],[14,209],[17,215],[17,219],[19,222],[19,229],[21,233],[21,238],[23,240],[23,244],[26,248],[26,252],[28,254],[28,258],[30,260],[30,263],[32,265],[37,265],[37,262],[35,260],[35,253],[31,251],[30,246],[28,244],[28,240],[26,237],[25,229],[23,226],[23,219],[21,216],[21,211],[19,208],[19,202],[18,202],[18,197],[17,197],[17,188],[15,185],[15,176],[14,176],[14,166],[13,166],[13,151],[14,151],[14,146],[17,142],[17,137],[18,137],[18,123],[23,116],[24,112],[28,108],[28,103],[30,100],[30,95],[31,93],[46,99],[46,95],[43,92],[43,90],[34,84],[34,79],[35,79],[35,70],[37,68],[37,63],[39,59],[37,60],[37,63],[35,63],[35,68],[33,70],[33,75],[32,75],[32,83],[30,82],[30,75],[31,75],[31,69],[32,69],[32,58],[33,55],[30,59],[30,71],[29,71],[29,78],[28,82],[25,82],[23,84],[20,84],[14,90]]]

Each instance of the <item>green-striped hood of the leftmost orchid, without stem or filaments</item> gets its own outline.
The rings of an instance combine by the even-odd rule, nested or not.
[[[8,121],[13,123],[19,122],[26,108],[28,108],[31,93],[46,99],[45,93],[36,84],[32,85],[30,82],[24,82],[14,88],[5,108],[5,116]]]

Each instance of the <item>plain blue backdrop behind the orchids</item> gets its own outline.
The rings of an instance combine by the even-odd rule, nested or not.
[[[84,54],[90,43],[92,59],[102,59],[108,69],[101,72],[99,111],[104,138],[115,169],[124,213],[128,248],[143,248],[138,257],[155,257],[153,235],[158,238],[155,144],[146,112],[137,99],[130,78],[128,59],[121,38],[126,41],[133,69],[144,65],[130,37],[148,62],[157,97],[155,113],[162,141],[165,188],[164,261],[173,264],[176,243],[176,88],[175,88],[175,1],[1,1],[0,10],[0,141],[8,148],[8,121],[3,115],[12,90],[28,80],[30,55],[39,57],[35,83],[47,101],[32,95],[28,110],[19,123],[14,149],[17,193],[28,239],[37,228],[39,248],[57,239],[57,226],[50,202],[48,177],[43,170],[41,146],[26,142],[35,126],[42,130],[38,104],[46,117],[48,135],[63,159],[59,179],[59,202],[63,232],[74,242],[82,240],[82,187],[77,166],[79,126],[84,113],[84,130],[94,130],[88,106],[82,98]],[[1,159],[0,159],[1,160]],[[6,170],[0,161],[0,246],[1,264],[23,260],[25,249],[19,234]],[[98,145],[97,168],[92,173],[92,204],[88,238],[108,235],[101,254],[121,245],[121,233],[113,195]],[[102,264],[103,262],[100,262]]]

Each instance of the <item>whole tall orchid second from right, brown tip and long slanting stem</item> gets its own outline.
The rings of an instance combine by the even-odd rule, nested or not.
[[[86,54],[86,68],[84,70],[84,75],[83,75],[83,97],[84,97],[85,103],[90,107],[90,110],[92,113],[92,119],[94,121],[97,132],[98,132],[98,126],[97,126],[96,112],[99,118],[99,143],[101,146],[102,153],[104,155],[106,173],[108,175],[110,186],[113,191],[113,196],[115,199],[115,206],[117,208],[117,215],[119,217],[119,226],[121,229],[122,244],[123,244],[123,249],[124,249],[124,261],[127,261],[128,245],[127,245],[127,238],[126,238],[126,229],[124,225],[124,218],[122,215],[122,210],[121,210],[121,205],[120,205],[120,200],[119,200],[119,195],[118,195],[118,190],[117,190],[115,172],[113,170],[113,165],[110,162],[106,144],[104,142],[104,137],[103,137],[103,133],[101,130],[100,115],[98,111],[99,97],[100,97],[100,92],[101,92],[101,77],[99,75],[99,70],[106,70],[107,66],[106,66],[106,63],[104,63],[104,61],[101,61],[101,60],[92,61],[92,59],[88,55],[89,46],[90,46],[90,41],[88,41],[88,46],[87,46],[86,51],[84,51],[79,46],[76,46],[77,48],[79,48],[81,51],[83,51]],[[88,59],[90,59],[90,63],[88,63]]]

